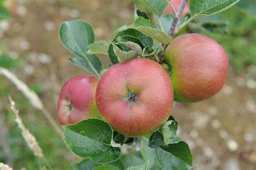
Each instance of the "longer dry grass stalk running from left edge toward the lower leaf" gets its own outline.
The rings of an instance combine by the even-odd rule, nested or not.
[[[42,101],[39,99],[37,94],[34,91],[30,90],[28,85],[26,85],[23,81],[19,80],[15,76],[15,74],[11,73],[9,70],[0,67],[0,74],[10,80],[11,83],[13,83],[17,87],[17,89],[29,99],[31,105],[40,110],[45,115],[45,117],[50,121],[51,125],[55,128],[60,137],[63,137],[63,131],[58,126],[56,121],[52,118],[51,114],[46,111]]]

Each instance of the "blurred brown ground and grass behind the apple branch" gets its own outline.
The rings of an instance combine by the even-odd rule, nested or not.
[[[255,4],[241,0],[233,8],[197,19],[183,30],[215,39],[230,57],[226,84],[217,95],[199,103],[177,103],[172,112],[179,123],[179,135],[192,149],[194,169],[256,169],[256,6],[250,2]],[[71,53],[58,38],[60,23],[84,19],[93,25],[96,40],[108,41],[114,30],[132,23],[134,9],[132,0],[9,0],[7,5],[12,18],[0,21],[0,66],[35,91],[56,121],[62,85],[78,74],[87,74],[69,63]],[[105,65],[110,63],[107,56],[100,59]],[[6,133],[0,131],[0,162],[9,162],[14,169],[44,167],[22,138],[8,96],[16,101],[25,126],[35,135],[53,169],[72,169],[70,162],[79,159],[44,114],[1,75],[0,127]]]

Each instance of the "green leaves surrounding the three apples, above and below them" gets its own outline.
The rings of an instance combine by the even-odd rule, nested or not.
[[[152,59],[163,64],[161,59],[164,53],[163,44],[168,44],[172,40],[168,33],[173,16],[162,15],[168,2],[166,0],[140,0],[140,2],[154,12],[155,21],[151,21],[152,18],[146,12],[136,8],[133,23],[119,28],[111,42],[103,40],[94,42],[92,26],[84,21],[64,22],[60,26],[59,37],[63,45],[76,56],[70,58],[71,63],[98,77],[109,67],[102,69],[102,64],[95,54],[109,55],[112,64],[137,57]],[[177,26],[184,26],[197,16],[211,16],[222,12],[237,2],[238,0],[190,0],[191,15],[180,20]],[[217,31],[227,33],[227,27],[228,22],[225,19],[211,16],[196,18],[187,28],[190,30],[197,28],[197,31],[214,35]],[[66,145],[80,157],[90,158],[74,164],[75,169],[192,168],[193,157],[190,148],[186,142],[177,137],[178,123],[173,117],[147,136],[149,139],[129,138],[113,132],[108,123],[99,119],[86,119],[76,125],[63,126],[63,128]],[[139,146],[138,140],[142,146]],[[141,147],[141,151],[120,156],[119,147],[136,149]]]

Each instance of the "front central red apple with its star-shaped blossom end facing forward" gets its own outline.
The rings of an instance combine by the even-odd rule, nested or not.
[[[138,103],[129,101],[137,93]],[[113,65],[100,78],[96,90],[100,115],[114,130],[137,137],[156,130],[170,116],[173,86],[163,67],[139,58]]]

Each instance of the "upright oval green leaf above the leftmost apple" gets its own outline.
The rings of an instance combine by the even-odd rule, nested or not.
[[[85,59],[93,73],[99,77],[102,64],[96,56],[86,54],[87,47],[94,42],[92,26],[79,19],[66,21],[60,25],[59,37],[66,49],[77,57]]]

